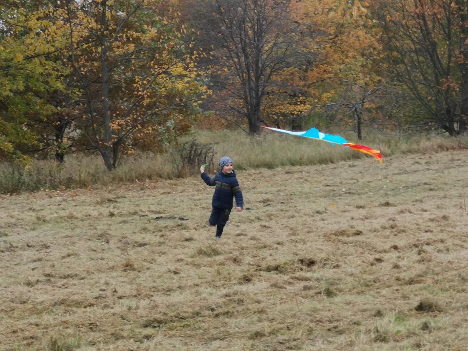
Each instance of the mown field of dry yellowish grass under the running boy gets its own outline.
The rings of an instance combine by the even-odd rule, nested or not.
[[[468,350],[467,159],[0,195],[0,350]]]

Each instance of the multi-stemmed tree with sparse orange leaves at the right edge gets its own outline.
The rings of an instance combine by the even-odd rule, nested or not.
[[[423,122],[450,136],[468,116],[468,3],[465,0],[373,2],[385,33],[389,72],[424,110]]]

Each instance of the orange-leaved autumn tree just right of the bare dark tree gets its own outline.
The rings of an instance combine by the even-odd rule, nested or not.
[[[376,107],[389,106],[393,99],[384,89],[381,30],[365,6],[358,0],[292,4],[294,21],[310,36],[307,65],[296,66],[290,75],[301,77],[297,80],[308,97],[310,109],[303,115],[323,115],[334,125],[352,127],[359,138],[363,123],[379,122]]]

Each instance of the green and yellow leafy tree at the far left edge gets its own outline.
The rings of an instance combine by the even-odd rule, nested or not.
[[[61,43],[50,40],[47,1],[0,6],[0,154],[23,160],[50,147],[66,90]],[[56,146],[56,145],[52,145]],[[1,156],[1,155],[0,155]]]

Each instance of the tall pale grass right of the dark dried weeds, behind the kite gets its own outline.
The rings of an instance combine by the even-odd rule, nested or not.
[[[332,132],[331,132],[332,133]],[[364,144],[381,151],[384,156],[408,153],[433,153],[448,150],[468,149],[468,137],[449,137],[446,134],[418,134],[386,136],[375,130],[365,130],[363,140],[352,132],[336,132],[349,142]],[[333,163],[343,160],[369,157],[340,145],[308,138],[287,136],[266,131],[261,137],[250,137],[234,131],[195,131],[200,142],[217,142],[215,160],[221,156],[234,158],[236,168],[268,168],[304,166]]]

